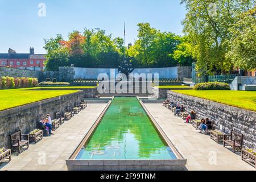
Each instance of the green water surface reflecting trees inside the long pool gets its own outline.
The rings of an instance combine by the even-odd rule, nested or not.
[[[76,159],[176,159],[136,97],[115,97]]]

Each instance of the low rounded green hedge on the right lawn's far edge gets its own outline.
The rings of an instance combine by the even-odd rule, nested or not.
[[[195,90],[230,90],[229,84],[222,82],[205,82],[201,84],[196,84]]]

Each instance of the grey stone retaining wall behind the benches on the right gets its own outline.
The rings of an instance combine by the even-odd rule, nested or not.
[[[180,102],[188,111],[195,110],[198,118],[214,121],[217,129],[226,134],[231,130],[244,134],[243,144],[249,148],[256,147],[256,112],[171,91],[168,91],[168,99]]]

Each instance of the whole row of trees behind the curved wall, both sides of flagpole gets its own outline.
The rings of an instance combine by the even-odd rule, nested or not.
[[[138,23],[138,39],[134,45],[125,47],[122,38],[112,38],[100,28],[85,28],[82,33],[71,32],[68,40],[64,40],[61,35],[45,40],[46,68],[58,70],[60,66],[71,64],[75,67],[118,68],[124,59],[125,50],[126,57],[134,67],[191,65],[187,55],[172,56],[183,40],[171,32],[156,30],[149,23]]]

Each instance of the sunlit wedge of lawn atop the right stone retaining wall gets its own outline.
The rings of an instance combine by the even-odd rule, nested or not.
[[[231,90],[172,90],[222,104],[256,111],[256,92]]]

